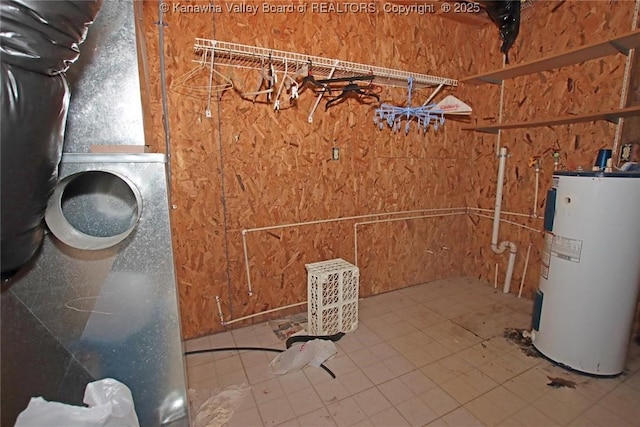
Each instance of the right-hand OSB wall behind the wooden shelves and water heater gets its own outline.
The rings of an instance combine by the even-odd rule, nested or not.
[[[522,23],[518,41],[510,53],[511,62],[538,59],[628,32],[631,30],[634,6],[635,2],[536,2]],[[470,74],[499,68],[480,61],[474,66],[476,69]],[[613,55],[507,80],[504,85],[503,121],[542,120],[618,108],[624,66],[625,57]],[[499,86],[476,87],[469,99],[476,111],[482,109],[482,113],[475,115],[474,121],[497,122],[499,96]],[[482,107],[477,108],[479,106]],[[525,215],[535,213],[539,217],[503,215],[503,219],[534,229],[501,224],[499,240],[510,240],[518,246],[511,282],[512,293],[518,292],[523,276],[523,296],[530,297],[538,285],[542,249],[541,217],[555,168],[553,151],[559,150],[560,170],[590,170],[598,149],[613,146],[615,130],[615,124],[598,121],[502,131],[500,143],[509,149],[502,209]],[[472,206],[493,209],[498,167],[496,141],[496,135],[487,134],[474,135],[466,141],[472,144],[469,145],[473,157],[469,193]],[[530,160],[534,157],[541,159],[540,190],[535,212],[535,170],[530,166]],[[492,216],[490,212],[484,214]],[[498,287],[501,288],[508,256],[494,254],[490,248],[492,221],[476,215],[471,215],[469,221],[473,233],[465,258],[465,272],[493,283],[495,265],[498,264]],[[531,253],[525,275],[524,261],[529,244]]]

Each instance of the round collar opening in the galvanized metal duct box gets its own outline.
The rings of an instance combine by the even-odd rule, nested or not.
[[[127,178],[113,172],[86,171],[60,180],[45,221],[63,243],[86,250],[123,241],[142,214],[142,197]]]

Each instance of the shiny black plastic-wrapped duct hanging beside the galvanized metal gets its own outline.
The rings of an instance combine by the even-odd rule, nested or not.
[[[0,2],[0,247],[2,280],[38,251],[58,180],[69,87],[102,0]]]

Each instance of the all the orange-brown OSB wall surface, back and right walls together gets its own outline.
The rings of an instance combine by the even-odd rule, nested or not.
[[[463,131],[468,123],[456,120],[448,120],[437,133],[430,129],[427,135],[419,135],[415,128],[409,135],[380,131],[373,125],[375,106],[353,99],[328,111],[321,103],[310,124],[307,115],[314,102],[310,93],[301,94],[295,105],[285,101],[283,110],[275,112],[263,98],[251,102],[228,90],[215,94],[212,117],[207,118],[207,96],[196,88],[206,76],[196,73],[187,84],[178,84],[194,70],[196,37],[463,78],[501,66],[495,26],[478,28],[429,14],[385,13],[383,2],[375,3],[375,13],[295,16],[228,12],[225,2],[213,2],[222,7],[220,13],[186,13],[167,4],[170,10],[164,14],[163,29],[172,227],[184,338],[224,329],[216,297],[226,320],[305,301],[304,265],[336,257],[355,263],[355,229],[362,296],[462,274],[493,283],[496,263],[501,286],[507,257],[491,251],[488,218],[474,214],[355,227],[357,222],[388,218],[368,216],[314,223],[419,209],[492,209],[495,135]],[[150,79],[145,117],[153,122],[147,139],[152,151],[163,152],[158,3],[146,1],[143,6]],[[510,52],[511,61],[540,58],[629,31],[633,7],[631,1],[536,2]],[[623,69],[624,57],[617,55],[508,81],[503,120],[616,107]],[[255,89],[255,71],[216,70],[232,77],[239,91]],[[437,99],[449,93],[472,106],[472,122],[498,120],[499,86],[461,84]],[[415,105],[428,94],[414,94]],[[384,88],[381,98],[404,105],[406,91]],[[553,170],[547,150],[560,146],[563,168],[589,168],[597,149],[611,146],[614,131],[615,125],[596,122],[503,132],[502,144],[511,152],[503,209],[531,213],[535,174],[528,163],[530,157],[542,156],[537,203],[537,214],[542,216]],[[340,150],[338,161],[331,160],[333,147]],[[540,218],[504,218],[534,230],[542,228]],[[254,230],[264,227],[268,229]],[[500,236],[519,248],[512,292],[517,292],[531,244],[524,283],[528,297],[537,286],[541,234],[503,224]],[[248,322],[287,313],[278,311]]]

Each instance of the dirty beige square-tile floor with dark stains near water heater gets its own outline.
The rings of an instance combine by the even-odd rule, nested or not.
[[[187,356],[189,387],[248,384],[238,427],[640,426],[640,346],[617,378],[568,372],[503,337],[529,327],[531,308],[474,279],[413,286],[360,300],[358,329],[326,362],[336,379],[310,366],[274,376],[276,353],[226,351]],[[285,348],[266,322],[185,343],[233,346]]]

